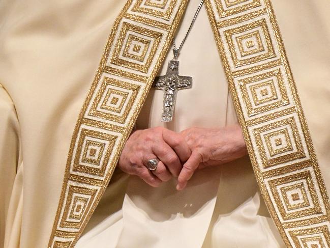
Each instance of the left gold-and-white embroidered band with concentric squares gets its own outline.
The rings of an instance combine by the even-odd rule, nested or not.
[[[128,0],[71,140],[48,247],[74,247],[98,205],[188,0]]]

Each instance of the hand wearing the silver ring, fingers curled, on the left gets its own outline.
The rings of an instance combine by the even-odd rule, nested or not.
[[[126,142],[118,167],[130,175],[136,175],[147,184],[158,187],[161,182],[177,177],[191,151],[183,136],[163,127],[134,131]],[[159,158],[157,169],[149,171],[145,164]]]

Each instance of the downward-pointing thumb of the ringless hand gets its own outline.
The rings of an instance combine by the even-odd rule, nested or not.
[[[184,164],[177,178],[177,185],[176,185],[177,190],[182,190],[186,187],[188,180],[193,176],[200,162],[201,162],[200,154],[197,152],[193,152],[190,158]]]

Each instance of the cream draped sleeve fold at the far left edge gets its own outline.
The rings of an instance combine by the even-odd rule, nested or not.
[[[21,211],[17,210],[22,206],[23,188],[20,151],[15,106],[7,91],[0,85],[0,247],[19,245]],[[9,240],[15,241],[11,243]]]

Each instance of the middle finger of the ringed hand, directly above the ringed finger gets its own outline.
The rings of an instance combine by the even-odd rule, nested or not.
[[[165,164],[169,172],[177,177],[182,169],[182,163],[174,150],[165,141],[153,147],[155,155]]]

